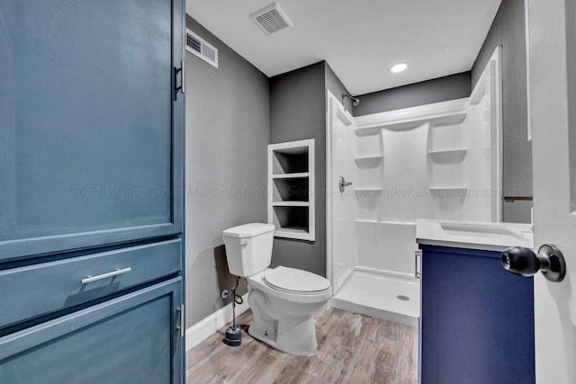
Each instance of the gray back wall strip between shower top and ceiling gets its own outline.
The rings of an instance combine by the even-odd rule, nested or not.
[[[421,83],[399,86],[357,96],[355,116],[399,110],[418,105],[446,102],[470,96],[470,73],[439,77]]]

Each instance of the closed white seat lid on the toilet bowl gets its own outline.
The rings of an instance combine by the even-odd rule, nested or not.
[[[284,266],[266,270],[262,280],[270,288],[286,293],[315,295],[330,290],[330,282],[322,276]]]

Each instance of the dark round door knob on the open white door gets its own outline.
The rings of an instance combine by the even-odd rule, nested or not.
[[[505,270],[520,276],[534,276],[540,271],[549,281],[563,281],[566,275],[566,263],[560,249],[556,246],[541,246],[536,255],[532,249],[523,246],[507,248],[500,254]]]

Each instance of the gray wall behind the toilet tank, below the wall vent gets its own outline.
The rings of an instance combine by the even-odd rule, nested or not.
[[[200,24],[220,67],[186,53],[186,326],[223,307],[231,276],[222,230],[266,222],[268,79]],[[320,107],[320,112],[322,111]]]

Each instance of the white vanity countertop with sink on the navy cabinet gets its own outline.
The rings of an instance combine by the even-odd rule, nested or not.
[[[416,241],[428,246],[453,246],[501,252],[509,246],[534,247],[530,224],[418,219]]]

